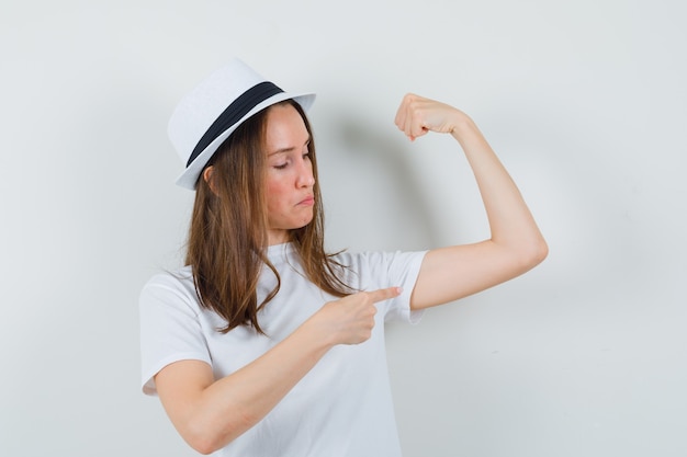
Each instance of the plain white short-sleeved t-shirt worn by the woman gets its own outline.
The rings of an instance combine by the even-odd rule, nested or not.
[[[361,290],[404,288],[399,297],[378,304],[370,340],[333,347],[252,429],[219,450],[240,457],[398,457],[401,447],[388,384],[384,321],[415,323],[409,299],[425,252],[341,253],[349,266],[345,282]],[[289,243],[272,245],[268,256],[279,271],[279,294],[258,313],[268,336],[249,327],[228,333],[224,320],[201,308],[190,267],[154,276],[140,295],[143,390],[155,395],[153,377],[181,359],[204,361],[215,378],[227,376],[274,346],[335,297],[305,278],[299,256]],[[258,302],[275,285],[264,269]]]

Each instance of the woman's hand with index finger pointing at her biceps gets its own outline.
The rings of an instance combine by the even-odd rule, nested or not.
[[[401,287],[360,292],[329,301],[315,315],[334,344],[359,344],[372,336],[374,304],[401,295]]]

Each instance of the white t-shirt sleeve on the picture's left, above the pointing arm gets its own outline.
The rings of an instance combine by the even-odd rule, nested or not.
[[[211,364],[199,313],[194,292],[172,275],[156,275],[144,286],[139,296],[144,393],[157,393],[154,376],[173,362]]]

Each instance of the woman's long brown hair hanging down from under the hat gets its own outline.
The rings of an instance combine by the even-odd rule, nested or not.
[[[305,112],[288,100],[301,115],[313,138]],[[218,329],[226,333],[238,325],[251,325],[264,334],[258,322],[258,311],[279,292],[281,278],[266,255],[268,245],[264,175],[267,155],[264,138],[269,108],[243,123],[207,163],[212,165],[212,187],[203,175],[199,179],[191,216],[187,264],[201,306],[222,316],[227,324]],[[324,292],[344,297],[352,290],[340,279],[344,269],[327,254],[324,247],[324,210],[314,140],[309,145],[315,185],[313,220],[290,231],[291,242],[301,258],[307,278]],[[262,265],[277,276],[277,286],[261,304],[257,286]]]

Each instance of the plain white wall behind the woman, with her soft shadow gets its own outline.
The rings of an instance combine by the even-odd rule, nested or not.
[[[318,93],[330,249],[486,237],[457,145],[395,129],[409,91],[477,122],[549,241],[391,329],[406,457],[687,455],[686,9],[3,0],[0,455],[195,455],[140,393],[137,297],[192,203],[167,119],[230,55]]]

